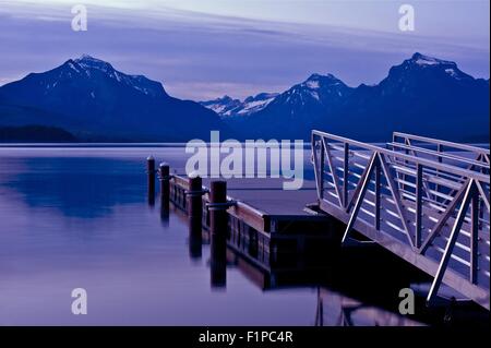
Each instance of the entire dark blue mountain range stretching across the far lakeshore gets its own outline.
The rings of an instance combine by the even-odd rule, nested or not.
[[[0,87],[0,127],[56,127],[98,141],[207,140],[211,130],[308,140],[315,128],[364,141],[403,131],[488,142],[489,92],[489,80],[474,79],[455,62],[415,53],[376,85],[349,87],[332,74],[312,74],[284,93],[195,103],[82,56]]]

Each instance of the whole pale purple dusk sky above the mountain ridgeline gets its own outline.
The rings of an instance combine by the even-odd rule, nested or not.
[[[400,4],[415,8],[402,32]],[[85,4],[88,31],[73,32]],[[310,74],[373,84],[415,51],[489,79],[489,1],[0,0],[0,85],[82,53],[179,98],[283,92]]]

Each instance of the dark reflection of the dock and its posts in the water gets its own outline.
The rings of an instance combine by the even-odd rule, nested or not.
[[[170,212],[189,224],[190,259],[202,257],[202,245],[209,245],[209,231],[190,223],[182,208],[170,204]],[[195,228],[196,230],[192,230]],[[197,230],[199,229],[199,230]],[[197,237],[199,236],[199,237]],[[288,247],[288,245],[287,245]],[[360,250],[360,248],[362,250]],[[277,249],[279,257],[271,262],[266,248],[240,248],[231,240],[227,242],[226,260],[206,260],[209,265],[212,288],[226,289],[227,268],[238,269],[247,279],[262,291],[282,289],[316,289],[316,308],[312,312],[312,325],[426,325],[428,322],[442,322],[445,308],[436,316],[404,316],[397,312],[400,288],[409,287],[412,281],[429,281],[429,277],[415,271],[374,244],[333,249],[331,254],[318,257],[315,254],[298,254],[291,248]],[[214,267],[219,265],[218,267]],[[218,261],[218,263],[216,263]],[[391,277],[386,264],[400,271],[402,276]],[[385,269],[385,271],[384,271]],[[349,274],[349,277],[346,277]],[[419,299],[418,312],[423,308]]]

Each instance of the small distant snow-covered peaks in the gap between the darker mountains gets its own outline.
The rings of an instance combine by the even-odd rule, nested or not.
[[[226,95],[214,100],[200,101],[200,104],[215,111],[221,118],[243,117],[264,109],[276,96],[278,96],[277,93],[260,93],[241,101]]]

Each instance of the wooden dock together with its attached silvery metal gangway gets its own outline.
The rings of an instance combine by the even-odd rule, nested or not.
[[[264,269],[298,254],[379,244],[433,277],[428,303],[445,284],[490,309],[489,149],[404,133],[382,147],[320,131],[311,148],[315,178],[301,190],[285,191],[279,179],[231,179],[216,185],[227,187],[217,203],[209,193],[216,181],[200,178],[196,191],[167,166],[163,202],[197,214],[200,235],[214,235],[213,221],[225,216],[227,245]]]

